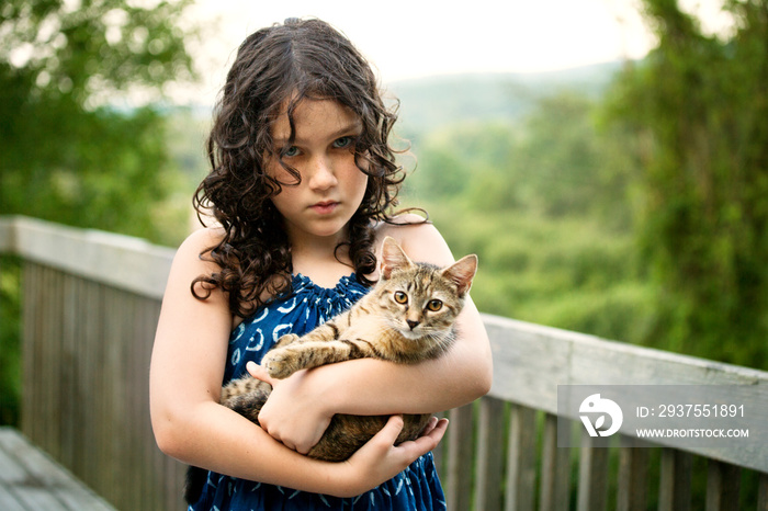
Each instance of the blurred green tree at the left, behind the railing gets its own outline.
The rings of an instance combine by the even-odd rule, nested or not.
[[[76,3],[79,3],[75,5]],[[0,7],[0,213],[167,240],[178,179],[157,107],[192,77],[180,16],[189,0],[7,0]],[[148,7],[147,7],[148,5]]]

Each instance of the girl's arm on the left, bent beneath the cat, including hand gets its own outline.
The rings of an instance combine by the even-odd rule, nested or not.
[[[402,428],[395,418],[348,462],[324,463],[289,450],[218,405],[233,318],[221,291],[206,300],[190,292],[196,276],[216,270],[199,258],[215,241],[215,231],[193,234],[171,268],[150,367],[153,429],[162,452],[222,474],[345,497],[389,479],[437,445],[444,422],[432,422],[425,436],[393,447]]]

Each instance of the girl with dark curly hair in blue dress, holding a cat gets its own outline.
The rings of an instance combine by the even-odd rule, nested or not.
[[[395,118],[365,59],[321,21],[287,20],[240,46],[195,196],[219,225],[192,234],[174,258],[150,370],[158,445],[211,470],[190,509],[444,508],[428,453],[447,421],[393,443],[397,413],[447,410],[488,390],[490,350],[470,300],[461,339],[434,361],[349,361],[283,381],[253,364],[280,336],[303,334],[364,295],[385,236],[414,260],[453,261],[430,224],[387,215],[402,182],[387,141]],[[261,428],[218,405],[222,383],[246,370],[274,387]],[[393,417],[347,462],[304,456],[335,413]]]

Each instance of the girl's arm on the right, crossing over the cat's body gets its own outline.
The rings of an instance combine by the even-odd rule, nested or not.
[[[448,246],[431,225],[387,226],[382,230],[380,239],[394,237],[414,261],[441,266],[453,262]],[[262,428],[306,453],[319,441],[334,413],[431,413],[472,402],[490,388],[490,345],[471,299],[458,321],[459,340],[451,351],[417,365],[362,359],[272,381],[251,364],[251,374],[274,386],[259,415]]]

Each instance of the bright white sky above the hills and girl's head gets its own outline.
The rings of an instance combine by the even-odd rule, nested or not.
[[[654,46],[639,0],[197,0],[190,19],[204,21],[192,47],[201,83],[178,88],[178,102],[212,104],[240,42],[286,18],[315,16],[343,32],[384,84],[465,72],[537,72],[622,58]],[[720,0],[681,0],[719,21]],[[715,30],[715,29],[713,29]]]

